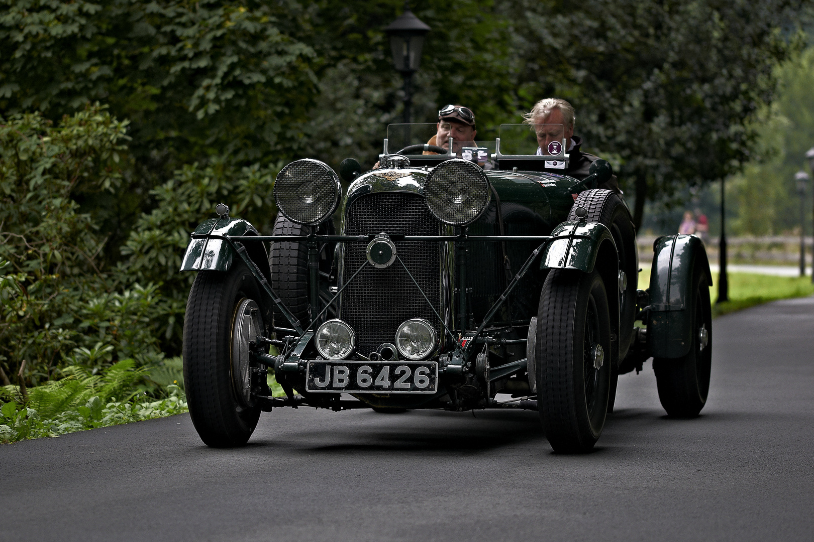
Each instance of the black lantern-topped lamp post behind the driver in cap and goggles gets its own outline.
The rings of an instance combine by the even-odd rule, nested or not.
[[[409,124],[410,106],[413,105],[413,74],[421,65],[424,36],[430,32],[430,27],[409,11],[409,2],[405,2],[404,13],[387,26],[384,32],[390,37],[396,72],[400,72],[405,79],[404,123]]]

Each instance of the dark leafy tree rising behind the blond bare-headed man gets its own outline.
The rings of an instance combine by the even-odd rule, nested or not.
[[[781,33],[802,2],[510,2],[523,106],[558,95],[591,148],[646,198],[720,180],[751,157],[772,69],[799,40]]]

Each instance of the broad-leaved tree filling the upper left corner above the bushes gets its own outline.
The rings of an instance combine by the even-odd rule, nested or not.
[[[183,164],[276,163],[302,145],[315,78],[313,48],[292,37],[309,28],[297,2],[0,4],[0,111],[59,119],[100,100],[130,119],[123,192],[81,202],[112,233],[109,262]]]

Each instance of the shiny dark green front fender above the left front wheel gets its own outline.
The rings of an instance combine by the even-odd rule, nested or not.
[[[256,236],[256,228],[247,220],[223,217],[209,219],[199,224],[192,232],[192,240],[186,247],[186,254],[181,263],[181,271],[229,271],[235,258],[239,254],[226,241],[229,236]],[[260,267],[260,271],[271,277],[269,269],[269,256],[265,245],[260,242],[245,243],[246,250],[252,261]]]

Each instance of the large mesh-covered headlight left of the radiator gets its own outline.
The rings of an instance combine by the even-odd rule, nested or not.
[[[282,168],[274,181],[274,201],[292,222],[313,226],[339,205],[342,185],[326,163],[303,158]]]

